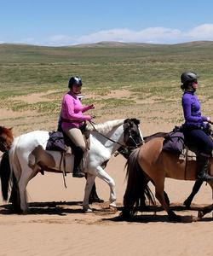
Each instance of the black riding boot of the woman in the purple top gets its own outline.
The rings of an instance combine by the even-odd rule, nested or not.
[[[199,154],[197,157],[197,178],[203,181],[213,181],[213,177],[208,174],[210,157]]]

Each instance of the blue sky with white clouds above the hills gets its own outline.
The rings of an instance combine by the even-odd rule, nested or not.
[[[213,1],[0,0],[0,43],[213,40]]]

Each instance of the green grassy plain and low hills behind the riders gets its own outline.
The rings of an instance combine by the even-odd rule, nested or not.
[[[199,93],[212,98],[213,42],[173,45],[102,42],[73,47],[0,44],[0,103],[2,108],[17,111],[58,113],[69,77],[78,74],[83,78],[83,92],[94,94],[92,101],[101,103],[105,113],[110,112],[109,108],[128,108],[136,105],[136,100],[142,102],[151,97],[158,104],[168,102],[172,106],[180,100],[180,74],[186,70],[200,74],[200,82],[205,86]],[[131,96],[101,99],[115,89],[130,90]],[[13,100],[14,96],[48,90],[57,91],[48,96],[52,102],[26,104]]]

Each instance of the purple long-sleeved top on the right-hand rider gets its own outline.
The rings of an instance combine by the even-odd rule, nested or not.
[[[196,125],[200,127],[207,121],[207,117],[200,112],[200,102],[192,91],[185,91],[182,96],[182,108],[185,118],[184,125]]]

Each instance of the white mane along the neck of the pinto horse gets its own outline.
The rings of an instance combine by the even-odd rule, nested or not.
[[[122,124],[124,124],[124,119],[116,119],[101,124],[89,125],[88,130],[98,131],[106,135],[109,131],[112,131],[112,128]]]

